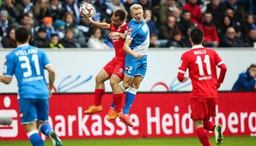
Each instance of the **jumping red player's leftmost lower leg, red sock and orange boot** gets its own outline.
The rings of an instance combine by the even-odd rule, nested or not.
[[[97,74],[95,78],[95,91],[94,91],[94,105],[89,106],[84,114],[94,114],[102,111],[101,99],[105,93],[105,81],[109,79],[109,74],[103,68],[101,72]]]

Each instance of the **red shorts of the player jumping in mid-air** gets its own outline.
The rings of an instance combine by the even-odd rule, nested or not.
[[[116,74],[120,79],[124,79],[124,67],[125,58],[114,57],[112,61],[109,61],[104,68],[108,76],[111,77],[112,74]]]

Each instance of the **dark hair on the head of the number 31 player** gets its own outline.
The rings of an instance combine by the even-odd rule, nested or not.
[[[15,38],[18,43],[25,43],[29,36],[29,31],[26,26],[18,26],[15,29]]]

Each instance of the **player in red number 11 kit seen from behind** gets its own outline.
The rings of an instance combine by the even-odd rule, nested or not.
[[[181,55],[178,79],[186,82],[186,69],[189,70],[189,78],[192,80],[191,93],[191,118],[200,142],[204,146],[210,146],[209,137],[205,130],[214,131],[216,144],[222,143],[222,126],[215,125],[210,117],[216,116],[217,89],[221,86],[227,67],[215,50],[204,48],[204,32],[194,28],[190,32],[189,40],[192,50]],[[216,67],[220,68],[217,78]]]

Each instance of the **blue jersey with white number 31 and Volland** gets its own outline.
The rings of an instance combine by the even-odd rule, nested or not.
[[[44,50],[22,44],[6,55],[3,75],[15,74],[21,98],[48,98],[44,69],[50,64]]]

